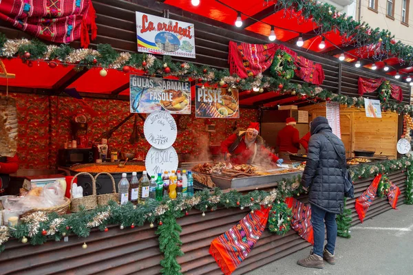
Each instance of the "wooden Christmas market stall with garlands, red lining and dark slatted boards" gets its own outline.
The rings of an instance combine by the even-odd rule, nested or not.
[[[0,23],[1,75],[6,77],[0,78],[1,103],[17,98],[12,112],[19,126],[17,144],[6,149],[19,155],[23,169],[65,171],[67,175],[52,177],[53,184],[55,179],[64,182],[65,203],[51,207],[63,214],[67,201],[72,204],[67,215],[49,208],[50,215],[22,213],[19,222],[6,221],[0,228],[3,274],[222,274],[211,256],[211,243],[261,209],[267,211],[268,224],[257,243],[248,244],[253,249],[237,263],[234,274],[310,246],[309,228],[297,228],[308,221],[308,199],[299,184],[306,153],[303,148],[286,152],[290,160],[282,164],[274,155],[279,153],[275,135],[290,118],[302,137],[308,123],[324,115],[346,145],[355,199],[348,199],[337,217],[339,236],[350,237],[350,226],[363,219],[401,203],[413,204],[413,159],[399,154],[407,147],[396,146],[400,137],[410,140],[413,128],[410,85],[390,81],[392,74],[408,76],[413,52],[401,51],[388,31],[371,30],[330,5],[307,1],[293,6],[266,1],[260,8],[202,1],[200,9],[173,0],[81,2],[89,8],[76,12],[94,17],[96,10],[97,34],[88,19],[82,24],[85,30],[74,28],[73,36],[62,34],[43,43],[30,36],[34,29],[13,27],[13,11],[4,11],[10,19]],[[222,14],[209,14],[212,9]],[[237,12],[244,19],[242,29],[233,26]],[[267,23],[262,21],[266,17],[271,17]],[[354,32],[359,40],[325,29],[323,20]],[[164,35],[145,36],[155,25]],[[266,34],[273,34],[273,25],[278,39],[268,43]],[[366,28],[373,32],[367,38],[361,31]],[[92,41],[86,39],[89,30]],[[59,41],[62,37],[66,40]],[[304,47],[295,45],[303,37]],[[81,49],[79,38],[90,47]],[[368,50],[360,47],[361,39],[366,45],[390,44],[390,50],[381,50],[398,52],[404,65],[388,58],[377,65],[392,65],[389,74],[371,72],[374,58],[365,56]],[[326,50],[314,47],[316,40]],[[70,45],[49,45],[52,42]],[[349,43],[359,47],[346,48]],[[336,58],[341,54],[337,47],[346,53],[348,64],[359,59],[371,64],[357,69],[343,65]],[[262,60],[245,59],[248,54]],[[251,65],[255,61],[259,66]],[[370,106],[375,99],[378,107],[375,101]],[[256,131],[266,141],[266,157],[254,164],[229,164],[221,142],[247,131],[251,122],[259,122]],[[8,137],[8,142],[14,140]],[[357,151],[372,156],[355,155]],[[191,170],[195,194],[169,198],[168,187],[163,199],[123,204],[122,194],[129,193],[118,188],[122,174],[129,179],[137,172],[142,178],[144,170],[149,176]],[[83,174],[74,178],[78,173]],[[169,179],[176,180],[173,177]],[[43,175],[43,184],[50,184],[45,179]],[[21,187],[30,192],[36,182],[39,178],[25,177]],[[74,192],[74,183],[80,194]],[[361,207],[370,189],[376,199]],[[297,208],[307,209],[301,220]]]

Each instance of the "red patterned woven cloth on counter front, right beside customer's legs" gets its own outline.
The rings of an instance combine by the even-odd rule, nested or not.
[[[311,224],[311,206],[306,206],[293,197],[286,198],[288,208],[291,208],[291,228],[303,238],[314,245],[313,225]]]

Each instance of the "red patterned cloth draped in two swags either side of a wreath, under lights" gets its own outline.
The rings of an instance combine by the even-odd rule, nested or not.
[[[240,78],[256,76],[271,66],[277,50],[282,50],[293,56],[294,65],[297,67],[295,74],[299,78],[315,85],[323,83],[325,76],[321,64],[314,63],[303,56],[298,56],[290,48],[275,43],[249,44],[230,41],[228,56],[230,73],[237,74]]]

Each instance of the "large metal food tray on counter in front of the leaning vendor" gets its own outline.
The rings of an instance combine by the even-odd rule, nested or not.
[[[291,179],[297,175],[301,175],[303,171],[297,170],[297,172],[288,172],[278,175],[259,175],[253,177],[240,177],[240,178],[231,178],[231,177],[222,177],[219,175],[211,175],[211,179],[218,187],[221,189],[228,188],[242,188],[247,186],[258,186],[262,184],[272,184],[282,179]]]

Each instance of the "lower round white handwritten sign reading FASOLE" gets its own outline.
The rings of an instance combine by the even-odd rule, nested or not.
[[[178,169],[178,154],[172,146],[165,150],[151,147],[145,159],[145,166],[149,176],[176,170]]]

